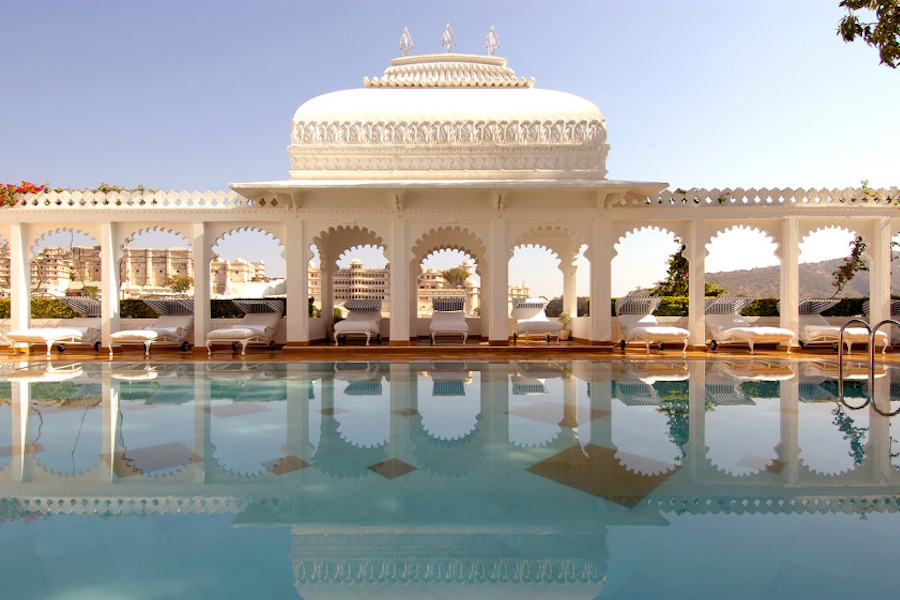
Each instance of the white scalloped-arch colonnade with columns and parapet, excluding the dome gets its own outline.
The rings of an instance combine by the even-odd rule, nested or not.
[[[858,191],[858,190],[857,190]],[[701,193],[702,192],[702,193]],[[778,203],[772,198],[778,192]],[[790,192],[790,194],[789,194]],[[803,194],[800,194],[803,192]],[[210,328],[208,270],[212,246],[225,233],[258,229],[274,235],[284,247],[287,269],[286,347],[305,346],[322,339],[325,324],[311,322],[307,313],[309,295],[307,268],[315,245],[322,257],[322,312],[331,314],[335,261],[358,245],[380,245],[391,264],[389,325],[390,343],[408,345],[415,339],[415,271],[434,250],[452,248],[469,254],[481,276],[481,333],[490,344],[505,345],[509,339],[507,264],[514,247],[533,244],[547,248],[561,262],[563,307],[576,314],[576,260],[582,247],[590,262],[589,317],[576,320],[575,336],[582,341],[605,344],[613,341],[613,322],[607,310],[611,298],[612,259],[616,243],[631,231],[659,228],[673,233],[686,246],[690,261],[690,343],[705,343],[704,282],[707,244],[731,227],[750,227],[777,245],[781,261],[781,326],[797,330],[799,325],[799,245],[811,232],[826,227],[844,227],[862,236],[870,262],[870,319],[890,315],[891,236],[900,229],[896,207],[887,191],[884,198],[862,202],[854,190],[835,190],[814,195],[804,190],[773,190],[764,196],[733,191],[727,201],[715,198],[717,190],[697,191],[693,202],[680,192],[663,192],[654,198],[618,196],[610,199],[597,190],[542,190],[539,205],[534,190],[502,195],[490,190],[420,190],[421,206],[410,192],[403,203],[392,200],[393,192],[369,190],[375,198],[358,206],[346,192],[322,194],[328,206],[306,205],[298,199],[278,197],[246,200],[236,194],[169,194],[148,205],[141,196],[122,200],[116,194],[91,196],[78,193],[40,194],[30,204],[4,209],[9,222],[0,225],[0,235],[10,241],[12,328],[25,328],[29,316],[30,248],[46,233],[71,228],[97,240],[102,259],[103,342],[119,328],[119,260],[125,242],[136,233],[165,227],[190,242],[195,265],[194,343],[202,346]],[[861,193],[861,192],[860,192]],[[458,194],[471,199],[475,208],[446,208]],[[299,193],[295,193],[299,198]],[[502,198],[502,200],[494,200]],[[99,200],[98,200],[99,197]],[[473,198],[474,197],[474,198]],[[386,208],[382,200],[387,199]],[[846,200],[850,198],[850,200]],[[405,203],[405,204],[404,204]],[[430,203],[430,204],[429,204]],[[483,204],[489,203],[490,208]],[[412,205],[412,206],[411,206]],[[355,210],[351,207],[357,206]]]

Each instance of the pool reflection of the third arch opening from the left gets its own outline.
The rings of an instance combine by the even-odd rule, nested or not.
[[[284,458],[286,402],[211,397],[209,412],[213,460],[225,471],[240,477],[260,477]]]

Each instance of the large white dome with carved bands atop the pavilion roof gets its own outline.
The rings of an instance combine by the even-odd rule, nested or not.
[[[292,179],[603,179],[600,109],[534,89],[506,59],[396,58],[366,87],[317,96],[294,114]]]

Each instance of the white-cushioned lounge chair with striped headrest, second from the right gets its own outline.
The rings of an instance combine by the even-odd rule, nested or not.
[[[721,296],[706,300],[706,328],[710,334],[709,349],[723,344],[747,344],[753,354],[757,344],[784,344],[788,354],[796,334],[783,327],[750,325],[740,311],[750,304],[751,298]]]

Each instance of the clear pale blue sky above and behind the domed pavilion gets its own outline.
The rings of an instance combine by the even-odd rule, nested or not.
[[[596,103],[610,178],[898,185],[900,70],[843,43],[842,15],[838,0],[2,0],[0,182],[285,179],[300,104],[380,76],[404,27],[414,53],[441,51],[449,22],[455,51],[484,52],[493,25],[518,75]],[[614,292],[632,271],[614,266]]]

